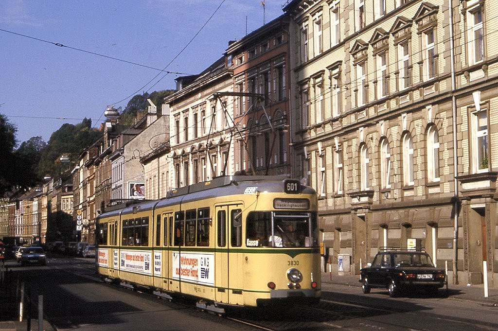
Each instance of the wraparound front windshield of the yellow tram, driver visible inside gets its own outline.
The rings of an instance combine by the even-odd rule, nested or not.
[[[316,213],[250,212],[248,247],[317,247]]]

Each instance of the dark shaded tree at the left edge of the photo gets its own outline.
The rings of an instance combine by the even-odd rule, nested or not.
[[[15,186],[15,132],[17,128],[0,113],[0,195]]]

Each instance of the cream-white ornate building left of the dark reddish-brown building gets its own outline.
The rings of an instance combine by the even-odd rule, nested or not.
[[[233,173],[233,101],[216,93],[233,92],[233,72],[222,57],[199,75],[176,79],[177,92],[166,97],[171,152],[166,178],[171,188]],[[166,179],[167,180],[167,179]]]

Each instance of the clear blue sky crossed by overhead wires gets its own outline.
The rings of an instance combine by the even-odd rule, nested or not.
[[[266,0],[264,21],[285,3]],[[157,69],[171,62],[165,70],[200,73],[229,40],[261,25],[261,0],[1,0],[0,113],[17,126],[19,143],[48,141],[85,117],[98,127],[108,105],[174,89],[178,74],[154,78]]]

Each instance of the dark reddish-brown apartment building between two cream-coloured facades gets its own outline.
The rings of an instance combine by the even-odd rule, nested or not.
[[[291,174],[289,19],[272,20],[226,51],[233,70],[234,170]],[[230,95],[230,94],[221,94]]]

